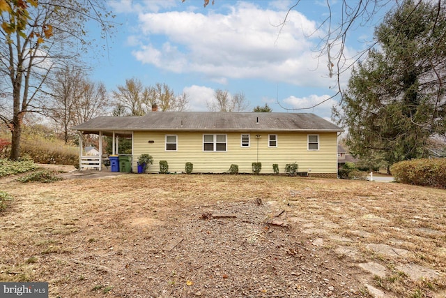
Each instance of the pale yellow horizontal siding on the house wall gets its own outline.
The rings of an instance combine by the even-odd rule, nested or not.
[[[261,174],[273,173],[273,163],[277,163],[279,172],[283,173],[287,163],[296,162],[300,172],[310,172],[316,177],[336,177],[337,133],[249,133],[249,147],[241,147],[240,135],[246,133],[206,131],[206,134],[214,133],[226,135],[226,151],[203,151],[205,133],[201,132],[135,131],[133,170],[136,172],[139,155],[146,153],[153,156],[153,165],[147,170],[151,173],[159,172],[160,161],[167,161],[169,172],[184,172],[185,163],[190,162],[194,165],[193,172],[222,173],[236,164],[240,173],[252,173],[252,163],[258,156],[262,163]],[[261,137],[256,139],[258,134]],[[277,135],[277,147],[268,147],[269,134]],[[319,136],[319,149],[308,150],[308,135],[315,134]],[[177,151],[165,150],[165,135],[177,135]]]

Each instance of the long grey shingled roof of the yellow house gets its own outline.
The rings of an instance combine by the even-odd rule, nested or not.
[[[342,128],[311,113],[149,112],[140,117],[97,117],[72,127],[99,131],[302,131],[341,132]]]

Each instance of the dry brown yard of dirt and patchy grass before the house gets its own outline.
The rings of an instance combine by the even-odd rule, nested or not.
[[[199,174],[0,189],[0,281],[49,297],[446,297],[444,190]]]

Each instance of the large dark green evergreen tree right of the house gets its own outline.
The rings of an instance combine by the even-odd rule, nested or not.
[[[334,109],[352,154],[392,165],[426,156],[430,137],[445,135],[445,34],[444,5],[405,1],[387,13],[375,31],[380,50],[355,67]]]

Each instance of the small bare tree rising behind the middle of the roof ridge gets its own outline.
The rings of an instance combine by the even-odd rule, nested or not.
[[[231,96],[229,91],[217,89],[213,100],[208,100],[206,105],[208,110],[213,112],[242,112],[247,109],[249,103],[243,92]]]

